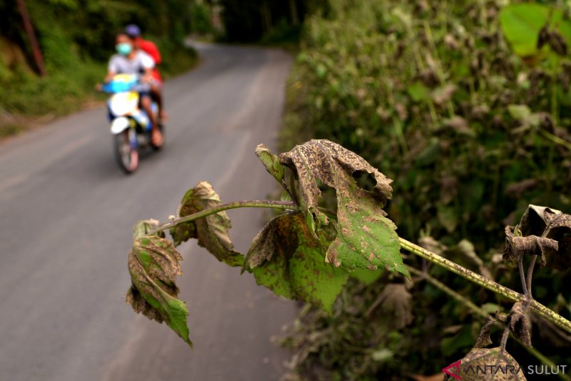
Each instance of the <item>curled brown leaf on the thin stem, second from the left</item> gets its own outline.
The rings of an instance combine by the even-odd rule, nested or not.
[[[211,184],[199,182],[189,189],[178,207],[177,217],[186,217],[201,210],[221,205],[220,197]],[[234,250],[228,230],[232,227],[228,214],[218,212],[191,222],[184,222],[171,228],[174,245],[191,238],[197,238],[198,244],[206,248],[219,261],[230,266],[241,266],[243,255]]]

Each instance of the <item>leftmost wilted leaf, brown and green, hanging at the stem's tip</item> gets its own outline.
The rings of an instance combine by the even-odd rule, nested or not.
[[[128,255],[131,287],[126,302],[135,312],[157,322],[166,322],[192,347],[186,325],[188,310],[185,303],[178,300],[175,282],[182,274],[179,263],[182,259],[168,239],[158,235],[134,239]]]

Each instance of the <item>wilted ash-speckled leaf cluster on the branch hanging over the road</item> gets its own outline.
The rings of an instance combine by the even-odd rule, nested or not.
[[[181,327],[183,321],[186,325],[186,310],[174,283],[182,258],[174,247],[191,238],[221,262],[253,273],[258,284],[277,295],[304,300],[325,312],[331,311],[347,281],[347,269],[381,267],[408,275],[395,225],[382,209],[392,191],[390,179],[357,154],[325,140],[305,143],[279,157],[260,145],[256,154],[293,201],[222,204],[211,185],[201,182],[186,192],[173,222],[138,222],[134,229],[128,259],[133,285],[127,301],[136,312],[166,321],[187,342],[188,330]],[[286,170],[290,185],[283,182]],[[352,175],[360,173],[373,175],[377,183],[372,192],[356,185]],[[337,213],[320,209],[318,182],[337,190]],[[228,234],[231,222],[224,210],[234,207],[276,207],[288,213],[268,222],[244,259]],[[163,238],[163,230],[169,228],[173,242]]]

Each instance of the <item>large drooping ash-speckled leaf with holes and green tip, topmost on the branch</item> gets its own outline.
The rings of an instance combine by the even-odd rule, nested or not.
[[[408,276],[400,257],[396,226],[383,211],[393,190],[390,179],[362,157],[328,140],[298,145],[279,159],[298,176],[300,206],[313,232],[329,222],[318,210],[318,182],[337,192],[338,236],[327,252],[330,263],[348,269],[385,268]],[[375,187],[371,192],[358,187],[353,179],[355,172],[373,176]]]

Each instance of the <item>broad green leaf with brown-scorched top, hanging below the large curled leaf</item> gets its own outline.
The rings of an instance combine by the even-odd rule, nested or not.
[[[301,213],[278,216],[253,239],[245,268],[276,295],[330,312],[348,273],[325,263],[331,237],[324,229],[318,234],[321,241],[313,237]]]

